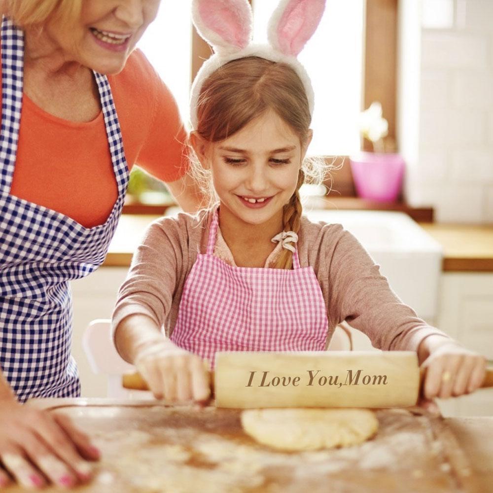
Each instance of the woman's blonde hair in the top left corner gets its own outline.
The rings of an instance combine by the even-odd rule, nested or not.
[[[0,0],[1,12],[20,28],[43,25],[48,19],[71,21],[80,15],[82,0]]]

